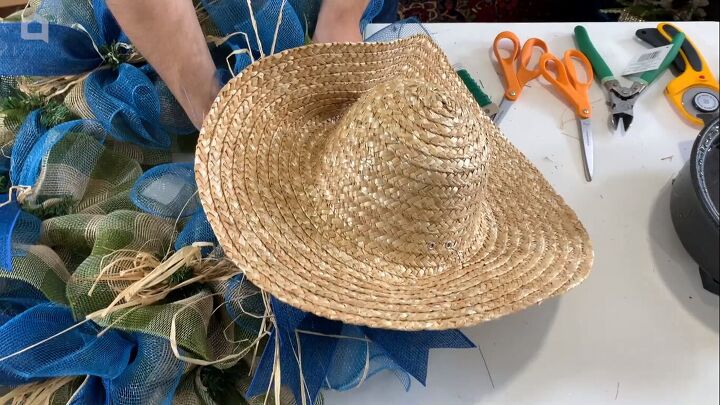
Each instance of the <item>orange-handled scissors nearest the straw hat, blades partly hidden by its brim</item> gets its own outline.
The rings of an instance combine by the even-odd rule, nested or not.
[[[510,40],[510,42],[512,42],[510,56],[506,58],[503,58],[500,53],[500,42],[503,40]],[[548,52],[547,45],[539,38],[528,39],[521,48],[520,39],[510,31],[503,31],[495,37],[493,52],[505,78],[505,95],[498,107],[498,113],[493,118],[495,124],[500,124],[500,121],[505,118],[505,114],[510,110],[512,104],[520,97],[520,93],[522,93],[525,84],[540,76],[539,65],[535,69],[530,69],[528,66],[535,48],[540,49],[543,54]]]

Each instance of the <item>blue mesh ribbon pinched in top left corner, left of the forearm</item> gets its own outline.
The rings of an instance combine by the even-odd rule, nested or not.
[[[64,76],[93,71],[103,64],[99,52],[105,47],[129,43],[104,0],[92,4],[45,0],[36,14],[57,20],[48,25],[47,43],[21,38],[21,23],[0,23],[0,75]],[[95,70],[82,85],[93,115],[115,139],[168,149],[170,133],[196,132],[149,65],[138,68],[123,63],[116,69]]]

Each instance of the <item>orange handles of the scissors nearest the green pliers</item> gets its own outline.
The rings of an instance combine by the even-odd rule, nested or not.
[[[575,60],[579,61],[585,70],[585,80],[581,81],[578,78]],[[555,55],[546,53],[540,58],[540,70],[543,77],[575,107],[575,114],[578,117],[590,118],[592,107],[590,106],[589,91],[593,80],[593,70],[590,61],[582,52],[570,49],[565,52],[562,61]]]

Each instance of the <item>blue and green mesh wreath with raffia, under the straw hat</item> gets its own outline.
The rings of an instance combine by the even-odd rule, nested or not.
[[[424,384],[430,349],[473,347],[456,330],[329,321],[254,287],[199,203],[197,131],[104,1],[30,3],[0,22],[0,403],[313,404],[383,370]],[[319,5],[196,1],[225,77],[273,43],[304,45]],[[27,20],[47,21],[47,42],[21,39]]]

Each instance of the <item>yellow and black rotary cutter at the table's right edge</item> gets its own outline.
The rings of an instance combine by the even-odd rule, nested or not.
[[[676,26],[660,23],[657,29],[641,29],[636,35],[653,46],[663,46],[670,43],[678,32],[682,31]],[[718,114],[720,86],[717,79],[700,51],[687,37],[680,48],[680,56],[671,68],[678,77],[668,83],[665,96],[683,118],[703,127],[705,120]]]

